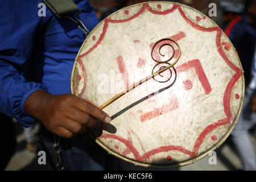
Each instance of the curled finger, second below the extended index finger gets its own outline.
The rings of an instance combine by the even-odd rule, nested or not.
[[[59,125],[74,134],[83,133],[85,131],[85,126],[69,118],[65,118]]]

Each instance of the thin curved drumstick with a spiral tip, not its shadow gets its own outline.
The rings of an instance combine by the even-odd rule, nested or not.
[[[162,55],[162,53],[160,53],[161,48],[162,48],[163,46],[170,46],[170,47],[172,48],[172,51],[173,51],[172,56],[171,56],[168,60],[166,60],[166,61],[159,61],[159,60],[154,59],[153,51],[154,51],[155,46],[156,46],[158,43],[160,43],[160,42],[162,42],[162,41],[165,41],[165,40],[169,40],[169,41],[171,41],[171,42],[174,42],[174,43],[176,44],[177,48],[179,49],[179,55],[177,56],[177,58],[176,58],[176,60],[174,61],[174,63],[168,65],[168,67],[161,67],[161,68],[159,69],[159,71],[156,71],[156,72],[152,73],[150,76],[147,76],[146,78],[143,78],[142,80],[139,80],[137,83],[135,83],[135,84],[129,86],[129,88],[123,90],[123,92],[117,94],[116,96],[114,96],[113,98],[111,98],[109,101],[107,101],[107,102],[105,102],[104,104],[102,104],[102,105],[99,107],[100,109],[104,109],[106,106],[112,104],[112,103],[113,103],[114,101],[116,101],[118,98],[122,97],[124,94],[126,94],[127,92],[129,92],[129,90],[132,90],[132,89],[134,89],[135,87],[137,87],[137,86],[143,84],[144,82],[150,80],[151,78],[154,78],[155,76],[160,75],[160,73],[166,71],[167,69],[170,69],[171,67],[173,67],[173,66],[177,63],[177,61],[180,59],[180,53],[181,53],[181,51],[180,51],[180,46],[179,46],[179,44],[178,44],[175,40],[173,40],[173,39],[168,39],[168,38],[160,39],[160,40],[158,40],[158,42],[156,42],[156,43],[154,44],[154,46],[153,46],[152,49],[151,49],[151,57],[152,57],[152,59],[153,59],[154,61],[158,62],[158,63],[167,63],[168,61],[170,61],[170,60],[174,57],[174,55],[175,55],[175,49],[174,49],[174,47],[173,47],[171,44],[165,43],[165,44],[163,44],[162,46],[159,47],[159,50],[158,50],[159,54],[160,54],[161,56],[164,56],[164,55]],[[162,68],[163,68],[163,69],[162,69]]]

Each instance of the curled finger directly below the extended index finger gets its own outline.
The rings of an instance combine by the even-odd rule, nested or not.
[[[73,114],[70,114],[68,117],[73,121],[76,121],[86,127],[97,126],[97,121],[93,117],[91,117],[89,114],[86,114],[79,109],[74,109],[72,113]]]

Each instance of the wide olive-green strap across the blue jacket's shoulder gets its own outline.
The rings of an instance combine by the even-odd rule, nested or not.
[[[57,17],[81,11],[72,0],[43,0],[43,2]]]

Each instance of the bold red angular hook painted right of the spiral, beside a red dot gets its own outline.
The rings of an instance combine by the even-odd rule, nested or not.
[[[199,81],[201,82],[201,84],[204,88],[205,94],[209,94],[212,91],[212,88],[210,87],[208,78],[205,75],[204,69],[198,59],[194,59],[192,61],[188,61],[187,63],[181,64],[176,69],[177,69],[177,72],[184,72],[191,68],[195,69],[196,75],[199,78]]]

